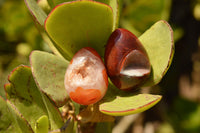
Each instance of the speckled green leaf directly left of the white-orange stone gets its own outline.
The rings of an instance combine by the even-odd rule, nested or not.
[[[64,76],[69,62],[50,53],[33,51],[30,63],[38,87],[57,106],[63,106],[69,98],[64,86]]]

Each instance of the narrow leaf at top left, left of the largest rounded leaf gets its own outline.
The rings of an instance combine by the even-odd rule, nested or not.
[[[35,0],[24,0],[26,6],[31,12],[33,18],[41,25],[44,26],[44,21],[47,18],[46,13],[38,6]]]

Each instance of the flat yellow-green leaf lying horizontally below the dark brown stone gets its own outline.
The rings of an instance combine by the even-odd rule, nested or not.
[[[139,94],[130,97],[117,96],[112,102],[106,102],[100,106],[100,111],[113,115],[123,116],[143,112],[161,99],[160,95]]]

